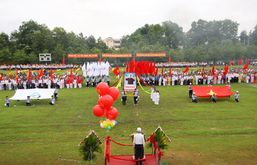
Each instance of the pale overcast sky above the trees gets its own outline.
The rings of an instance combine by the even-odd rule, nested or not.
[[[10,34],[30,19],[51,30],[82,32],[96,38],[121,38],[145,24],[172,21],[187,32],[193,21],[231,19],[239,23],[238,33],[257,24],[256,0],[0,0],[0,32]]]

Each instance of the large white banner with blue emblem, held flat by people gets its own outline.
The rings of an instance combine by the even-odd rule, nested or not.
[[[50,99],[55,89],[27,89],[17,90],[10,100],[26,100],[29,96],[30,99]]]

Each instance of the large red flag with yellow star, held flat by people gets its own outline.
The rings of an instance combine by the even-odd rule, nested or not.
[[[223,87],[199,87],[199,86],[191,86],[192,90],[196,93],[196,96],[207,98],[216,94],[219,98],[225,98],[230,95],[234,95],[233,92],[229,90],[229,86]]]

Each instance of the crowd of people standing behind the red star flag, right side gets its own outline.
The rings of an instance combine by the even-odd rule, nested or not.
[[[227,74],[223,75],[223,69],[216,69],[215,74],[212,70],[202,70],[190,71],[188,73],[183,73],[183,70],[172,69],[169,73],[166,69],[163,75],[158,73],[157,75],[145,75],[140,74],[140,78],[147,85],[154,86],[176,86],[176,85],[206,85],[206,84],[227,84],[227,82],[246,82],[252,83],[257,82],[257,69],[233,69],[231,68]],[[143,86],[145,86],[143,84]]]

